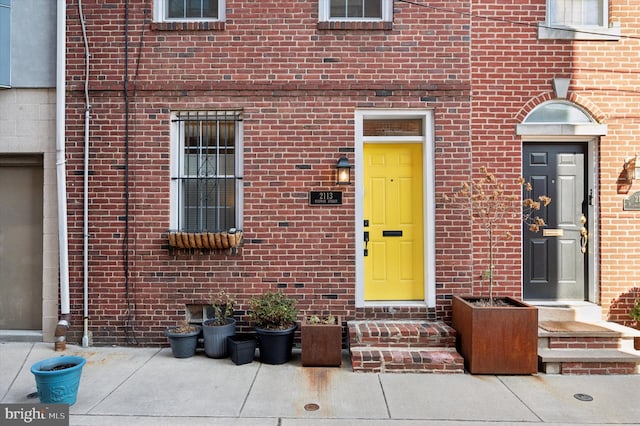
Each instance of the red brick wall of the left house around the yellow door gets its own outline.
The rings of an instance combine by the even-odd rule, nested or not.
[[[84,52],[77,4],[70,3],[69,233],[77,315],[82,309]],[[209,291],[218,288],[239,296],[242,326],[247,326],[248,297],[277,288],[298,299],[301,315],[393,315],[354,307],[354,188],[341,188],[344,204],[333,208],[309,207],[307,194],[335,189],[340,155],[353,161],[357,108],[435,107],[438,173],[464,163],[457,151],[468,144],[468,18],[397,3],[393,30],[319,30],[316,2],[230,0],[223,31],[158,31],[145,9],[149,3],[130,1],[129,10],[125,263],[124,2],[83,2],[92,52],[93,341],[165,343],[162,329],[184,317],[184,305],[206,303]],[[235,256],[167,249],[170,112],[207,108],[244,109],[245,243]],[[443,268],[441,276],[448,275]],[[446,281],[442,294],[450,292]],[[412,308],[397,315],[426,314],[425,308]],[[80,321],[74,324],[70,340],[79,335]]]

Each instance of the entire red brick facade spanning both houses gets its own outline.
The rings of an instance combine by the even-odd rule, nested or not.
[[[343,188],[343,205],[327,209],[309,206],[308,191],[335,189],[335,161],[353,153],[354,111],[362,108],[434,109],[438,195],[479,164],[517,177],[515,125],[553,95],[553,77],[571,77],[573,98],[609,126],[598,150],[602,304],[616,305],[633,287],[640,221],[622,211],[616,180],[624,158],[640,151],[633,139],[639,65],[630,59],[637,40],[539,41],[529,25],[544,20],[545,0],[395,2],[391,29],[319,25],[316,2],[234,0],[224,25],[213,29],[154,24],[152,2],[131,0],[125,28],[125,3],[83,2],[95,344],[164,344],[162,330],[184,318],[185,304],[206,303],[219,288],[238,295],[242,327],[248,298],[267,289],[295,295],[301,315],[448,319],[451,294],[474,291],[484,261],[471,261],[472,253],[486,252],[465,217],[437,205],[435,308],[356,308],[354,186]],[[640,10],[632,0],[611,3],[611,19],[631,34]],[[85,52],[77,6],[67,6],[69,252],[78,319],[70,341],[80,339],[83,298]],[[244,245],[236,255],[171,251],[170,114],[221,108],[244,111]],[[520,241],[508,244],[498,272],[514,284],[500,293],[519,297]],[[629,300],[611,309],[612,319],[625,320]]]

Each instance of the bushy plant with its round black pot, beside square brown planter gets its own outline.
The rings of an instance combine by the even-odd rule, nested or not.
[[[289,362],[297,328],[295,299],[281,291],[267,292],[249,299],[249,305],[249,317],[255,322],[260,361],[265,364]]]

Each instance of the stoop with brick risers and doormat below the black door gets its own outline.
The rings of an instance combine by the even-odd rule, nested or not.
[[[601,320],[599,307],[539,308],[538,363],[547,374],[638,374],[640,331]],[[582,312],[581,312],[582,311]]]

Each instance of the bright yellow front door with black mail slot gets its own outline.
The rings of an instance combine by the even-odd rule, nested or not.
[[[364,298],[423,300],[422,144],[365,144],[363,172]]]

